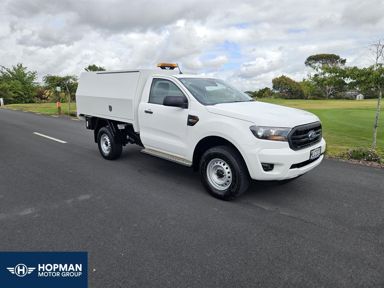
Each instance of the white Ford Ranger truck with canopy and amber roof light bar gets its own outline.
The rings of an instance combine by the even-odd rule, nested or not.
[[[158,67],[81,73],[78,118],[105,159],[137,144],[144,154],[199,171],[205,189],[222,200],[242,195],[251,178],[283,184],[322,161],[316,115],[255,101],[174,64]]]

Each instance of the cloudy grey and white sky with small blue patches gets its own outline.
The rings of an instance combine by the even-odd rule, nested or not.
[[[384,35],[384,1],[0,1],[0,64],[80,75],[107,70],[183,70],[243,90],[301,81],[304,61],[335,53],[366,66],[363,46]]]

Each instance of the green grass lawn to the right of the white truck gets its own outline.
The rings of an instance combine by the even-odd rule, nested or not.
[[[371,147],[377,99],[366,100],[281,100],[258,101],[303,109],[316,114],[323,124],[326,152],[336,155],[346,148]],[[384,148],[384,111],[380,111],[376,146]]]

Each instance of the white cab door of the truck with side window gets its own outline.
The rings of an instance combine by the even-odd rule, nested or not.
[[[149,95],[144,95],[139,105],[140,138],[146,148],[185,156],[187,144],[188,108],[164,106],[163,99],[167,95],[184,96],[179,84],[166,77],[152,79]]]

